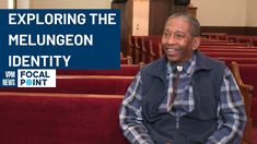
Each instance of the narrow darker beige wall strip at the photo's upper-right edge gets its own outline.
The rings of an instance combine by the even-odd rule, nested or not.
[[[246,26],[257,27],[257,0],[247,0],[246,13]]]

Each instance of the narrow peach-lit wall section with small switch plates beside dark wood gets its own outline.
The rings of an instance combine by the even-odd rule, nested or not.
[[[133,0],[133,36],[147,36],[149,34],[149,0]]]

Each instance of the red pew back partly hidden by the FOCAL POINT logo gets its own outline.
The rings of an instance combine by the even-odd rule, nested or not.
[[[135,76],[58,75],[56,87],[1,87],[0,92],[124,95],[133,79]]]

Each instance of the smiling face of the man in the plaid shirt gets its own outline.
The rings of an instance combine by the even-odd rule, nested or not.
[[[196,39],[190,35],[190,25],[183,17],[167,21],[162,37],[162,47],[170,62],[183,63],[197,49]]]

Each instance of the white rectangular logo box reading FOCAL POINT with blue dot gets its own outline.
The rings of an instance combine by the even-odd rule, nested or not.
[[[56,70],[19,69],[17,87],[56,87]]]

